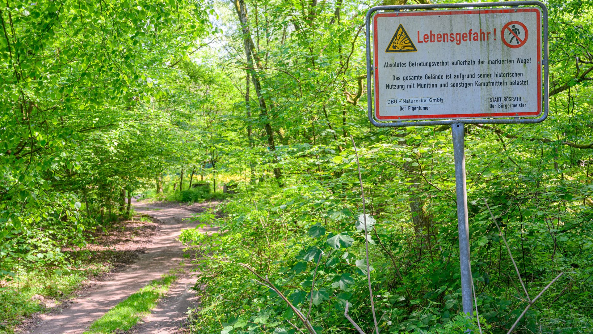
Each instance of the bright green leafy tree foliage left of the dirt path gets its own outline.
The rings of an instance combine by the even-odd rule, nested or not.
[[[126,216],[126,197],[162,173],[183,113],[151,101],[210,14],[192,0],[5,3],[0,276],[60,266],[62,247]]]

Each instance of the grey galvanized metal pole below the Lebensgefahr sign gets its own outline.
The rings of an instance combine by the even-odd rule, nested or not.
[[[457,190],[457,228],[459,231],[459,260],[461,264],[461,301],[463,312],[473,316],[471,305],[470,231],[467,223],[466,153],[464,124],[451,123],[453,154],[455,157],[455,188]]]

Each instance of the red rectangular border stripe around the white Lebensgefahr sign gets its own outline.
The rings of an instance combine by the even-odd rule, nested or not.
[[[502,13],[515,13],[515,12],[535,12],[536,15],[536,26],[537,26],[537,59],[541,59],[541,11],[539,8],[516,8],[516,9],[505,9],[505,10],[494,10],[494,9],[478,9],[478,10],[454,10],[454,11],[410,11],[410,12],[382,12],[375,14],[373,17],[373,52],[374,52],[374,89],[375,89],[375,118],[384,121],[406,121],[413,119],[463,119],[463,118],[493,118],[493,117],[525,117],[525,116],[538,116],[541,114],[541,61],[537,64],[537,86],[540,87],[537,91],[537,111],[531,112],[480,112],[475,114],[445,114],[445,115],[407,115],[407,116],[381,116],[379,111],[379,90],[378,81],[379,74],[377,71],[379,56],[378,56],[378,31],[377,31],[377,18],[378,17],[402,17],[402,16],[432,16],[432,15],[472,15],[472,14],[502,14]]]

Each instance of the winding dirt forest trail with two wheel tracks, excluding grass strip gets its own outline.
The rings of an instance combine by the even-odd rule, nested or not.
[[[27,332],[82,333],[110,308],[150,281],[180,267],[183,261],[186,264],[181,268],[185,273],[178,274],[178,280],[171,286],[167,297],[158,303],[157,308],[143,320],[144,323],[137,324],[132,329],[133,333],[138,334],[180,332],[186,311],[197,303],[199,298],[191,289],[195,284],[195,273],[192,274],[192,266],[187,265],[190,259],[184,259],[184,246],[177,238],[181,229],[196,227],[197,222],[183,219],[190,218],[199,210],[189,210],[173,203],[134,203],[134,208],[137,212],[160,220],[160,232],[154,241],[147,245],[146,253],[141,254],[135,263],[99,282],[90,294],[73,300],[61,313],[42,314],[39,325]]]

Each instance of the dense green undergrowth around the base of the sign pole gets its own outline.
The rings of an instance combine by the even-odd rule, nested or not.
[[[394,147],[401,152],[393,153]],[[406,184],[397,171],[372,165],[378,157],[396,160],[415,154],[406,151],[408,147],[394,147],[381,144],[359,152],[365,188],[372,189],[367,201],[371,203],[368,241],[379,332],[457,334],[464,327],[476,332],[475,319],[460,316],[457,219],[449,195],[454,192],[454,172],[439,175],[439,187],[447,191],[428,185],[415,190],[431,203],[428,221],[420,221],[426,225],[417,225],[410,218],[409,198],[402,195],[412,183]],[[358,173],[352,155],[335,160],[333,169],[315,178],[287,180],[292,186],[282,188],[272,182],[254,186],[219,206],[223,216],[197,215],[222,233],[182,232],[180,240],[196,251],[200,271],[205,273],[196,283],[196,289],[204,290],[197,292],[203,297],[191,316],[192,333],[305,332],[304,324],[273,287],[310,320],[318,334],[354,332],[344,316],[346,301],[350,316],[365,333],[375,332]],[[541,185],[502,172],[496,176],[500,179],[468,192],[471,266],[484,333],[506,333],[526,303],[483,198],[489,198],[493,215],[504,222],[503,232],[531,298],[559,272],[565,273],[527,311],[514,333],[591,333],[593,284],[588,280],[593,266],[584,255],[593,245],[589,223],[593,212],[579,206],[567,187]],[[468,175],[468,180],[473,177]],[[503,182],[510,182],[502,178],[520,185],[521,191],[501,188]],[[541,200],[544,190],[544,198],[554,201],[554,206]],[[557,213],[557,207],[567,213]],[[562,220],[563,229],[551,234],[547,216]]]

